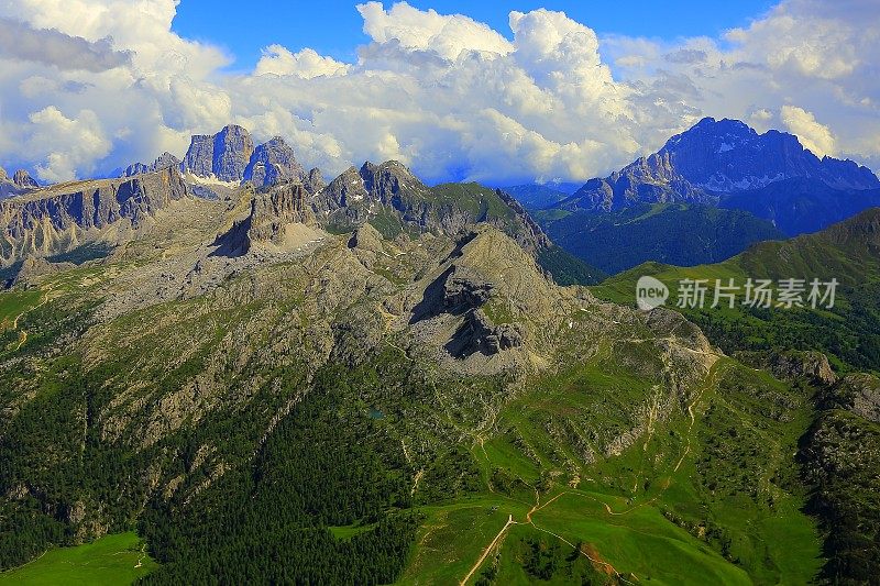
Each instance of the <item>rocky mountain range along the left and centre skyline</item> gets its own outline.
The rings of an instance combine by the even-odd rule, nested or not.
[[[183,161],[164,153],[114,179],[33,189],[26,176],[15,177],[21,184],[13,184],[15,194],[25,196],[0,203],[3,265],[67,254],[96,240],[127,241],[175,201],[197,197],[234,206],[242,189],[250,189],[257,191],[258,204],[218,240],[224,254],[245,254],[255,242],[283,243],[292,218],[334,233],[370,223],[387,239],[425,232],[458,236],[485,223],[513,237],[560,284],[593,284],[605,276],[556,246],[504,191],[477,184],[428,187],[395,161],[351,167],[327,184],[319,169],[306,173],[283,139],[254,146],[237,125],[193,136]]]

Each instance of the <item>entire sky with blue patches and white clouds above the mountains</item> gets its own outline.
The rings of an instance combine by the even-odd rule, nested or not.
[[[712,115],[880,169],[878,69],[877,0],[0,0],[0,166],[99,176],[238,123],[328,177],[583,181]]]

